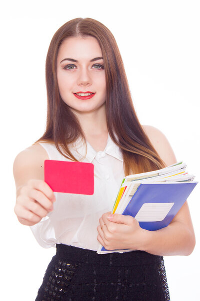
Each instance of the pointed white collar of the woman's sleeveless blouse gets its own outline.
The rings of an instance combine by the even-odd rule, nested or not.
[[[72,155],[78,160],[83,161],[85,158],[86,160],[91,163],[98,152],[96,152],[93,147],[89,144],[89,142],[86,141],[87,145],[87,151],[85,149],[84,141],[82,139],[78,139],[75,143],[75,149],[74,147],[70,149],[70,152]],[[120,148],[112,141],[111,137],[108,134],[107,137],[107,144],[105,146],[105,149],[103,152],[107,155],[110,155],[120,161],[123,162],[123,156],[121,153]]]

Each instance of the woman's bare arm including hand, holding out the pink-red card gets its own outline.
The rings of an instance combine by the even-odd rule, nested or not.
[[[54,194],[43,179],[44,148],[35,144],[19,153],[13,163],[16,185],[14,212],[23,225],[32,226],[52,211]]]

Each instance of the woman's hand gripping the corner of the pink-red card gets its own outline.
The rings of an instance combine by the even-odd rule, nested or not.
[[[18,188],[14,212],[23,225],[32,226],[53,210],[55,196],[42,180],[28,180]]]

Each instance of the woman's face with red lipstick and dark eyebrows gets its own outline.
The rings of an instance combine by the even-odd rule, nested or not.
[[[71,37],[61,44],[57,81],[60,96],[72,111],[93,112],[105,105],[104,64],[95,38]]]

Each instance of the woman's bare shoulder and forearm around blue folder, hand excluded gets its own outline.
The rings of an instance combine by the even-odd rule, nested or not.
[[[175,163],[173,150],[166,137],[151,126],[144,126],[144,130],[164,163],[167,166]],[[189,255],[195,245],[195,236],[187,202],[167,227],[148,232],[145,251],[156,255]]]

